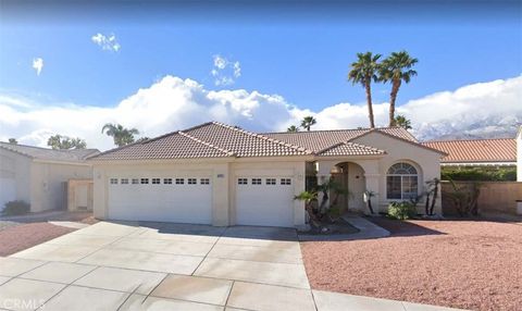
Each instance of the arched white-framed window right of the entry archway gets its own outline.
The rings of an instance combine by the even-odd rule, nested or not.
[[[419,175],[417,169],[408,163],[396,163],[386,173],[386,198],[408,200],[418,196]]]

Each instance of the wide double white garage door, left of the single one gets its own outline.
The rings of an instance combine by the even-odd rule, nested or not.
[[[109,219],[210,224],[210,176],[111,177]]]

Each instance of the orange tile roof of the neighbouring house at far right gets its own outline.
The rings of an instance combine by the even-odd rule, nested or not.
[[[422,145],[448,156],[442,163],[517,162],[517,141],[512,138],[425,141]]]

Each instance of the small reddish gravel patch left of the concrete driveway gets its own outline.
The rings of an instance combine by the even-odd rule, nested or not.
[[[74,231],[49,223],[21,224],[0,231],[0,256],[18,252]]]

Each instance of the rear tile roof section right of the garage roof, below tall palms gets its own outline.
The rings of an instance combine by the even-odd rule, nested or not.
[[[406,129],[401,127],[380,127],[358,128],[358,129],[334,129],[334,130],[303,130],[297,133],[263,133],[264,136],[286,141],[296,146],[302,146],[313,152],[326,149],[335,144],[351,140],[358,136],[366,134],[371,130],[380,130],[412,142],[417,139]]]

